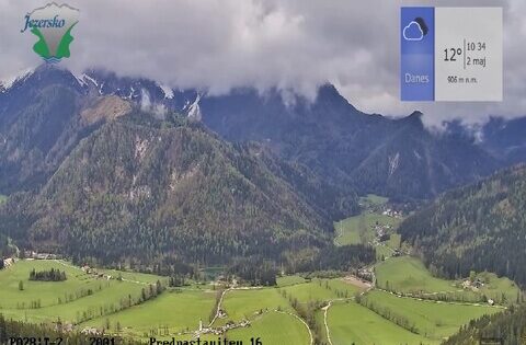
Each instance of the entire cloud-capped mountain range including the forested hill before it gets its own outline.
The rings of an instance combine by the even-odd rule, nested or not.
[[[431,198],[523,160],[519,125],[481,141],[422,116],[362,113],[329,84],[208,95],[42,66],[0,90],[0,232],[110,262],[308,256],[357,195]]]

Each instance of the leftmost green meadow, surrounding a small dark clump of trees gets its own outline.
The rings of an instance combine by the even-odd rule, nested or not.
[[[30,281],[30,272],[50,268],[65,271],[66,281]],[[126,276],[123,274],[123,276]],[[159,277],[150,279],[157,281]],[[22,281],[23,290],[19,289]],[[147,285],[133,281],[106,280],[83,273],[61,261],[19,261],[0,272],[0,300],[2,314],[14,320],[54,322],[57,318],[76,323],[96,318],[121,308],[123,300],[137,300]],[[81,294],[91,289],[91,295]],[[31,308],[38,302],[41,308]]]

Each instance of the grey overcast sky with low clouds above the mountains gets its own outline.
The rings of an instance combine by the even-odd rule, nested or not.
[[[400,5],[502,5],[504,102],[399,101]],[[21,33],[24,15],[47,1],[0,0],[0,78],[41,64],[36,42]],[[62,1],[58,1],[62,3]],[[313,97],[334,83],[368,113],[426,122],[526,115],[525,0],[69,0],[80,9],[71,58],[82,70],[104,67],[174,88],[226,93],[236,87],[277,87]]]

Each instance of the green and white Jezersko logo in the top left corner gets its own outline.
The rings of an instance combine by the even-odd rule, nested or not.
[[[38,8],[24,16],[24,26],[20,31],[30,31],[38,37],[33,50],[46,62],[57,64],[69,58],[69,45],[73,42],[71,31],[79,22],[79,10],[68,4],[55,2]]]

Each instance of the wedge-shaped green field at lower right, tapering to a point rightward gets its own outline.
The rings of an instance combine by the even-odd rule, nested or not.
[[[416,329],[416,333],[434,341],[456,333],[461,325],[472,319],[503,310],[489,306],[420,301],[384,291],[370,291],[365,300],[381,310],[388,309],[392,314],[404,318]]]

